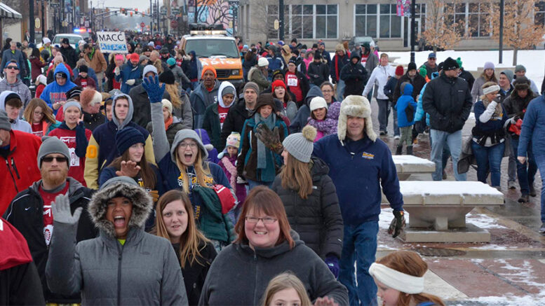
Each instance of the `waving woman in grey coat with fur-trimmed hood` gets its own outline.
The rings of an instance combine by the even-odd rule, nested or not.
[[[52,204],[58,230],[46,278],[51,291],[81,291],[83,305],[187,305],[182,271],[167,239],[144,232],[152,197],[127,176],[109,179],[89,202],[100,236],[76,244],[81,208],[67,195]]]

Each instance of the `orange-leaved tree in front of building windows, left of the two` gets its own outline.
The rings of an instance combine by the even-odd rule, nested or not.
[[[471,32],[471,28],[466,31],[466,21],[455,15],[462,5],[458,0],[431,0],[426,5],[426,30],[422,32],[422,37],[433,46],[433,52],[437,48],[454,48]]]

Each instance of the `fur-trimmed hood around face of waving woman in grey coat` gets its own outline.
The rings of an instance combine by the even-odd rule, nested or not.
[[[133,213],[128,221],[128,227],[143,228],[153,209],[152,197],[144,188],[125,182],[112,183],[93,195],[88,211],[95,226],[107,235],[115,237],[114,224],[106,220],[108,201],[113,197],[126,197],[133,202]]]

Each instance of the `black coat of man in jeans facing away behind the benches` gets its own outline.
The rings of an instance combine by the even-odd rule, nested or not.
[[[444,73],[429,81],[422,97],[430,127],[449,133],[462,130],[471,106],[473,99],[467,82],[463,78],[448,78]]]

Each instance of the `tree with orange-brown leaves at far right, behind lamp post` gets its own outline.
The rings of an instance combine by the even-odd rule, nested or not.
[[[542,25],[534,24],[534,0],[506,0],[504,8],[504,44],[513,48],[513,66],[518,50],[530,49],[540,43],[545,34]],[[499,41],[499,4],[492,6],[492,37]]]

